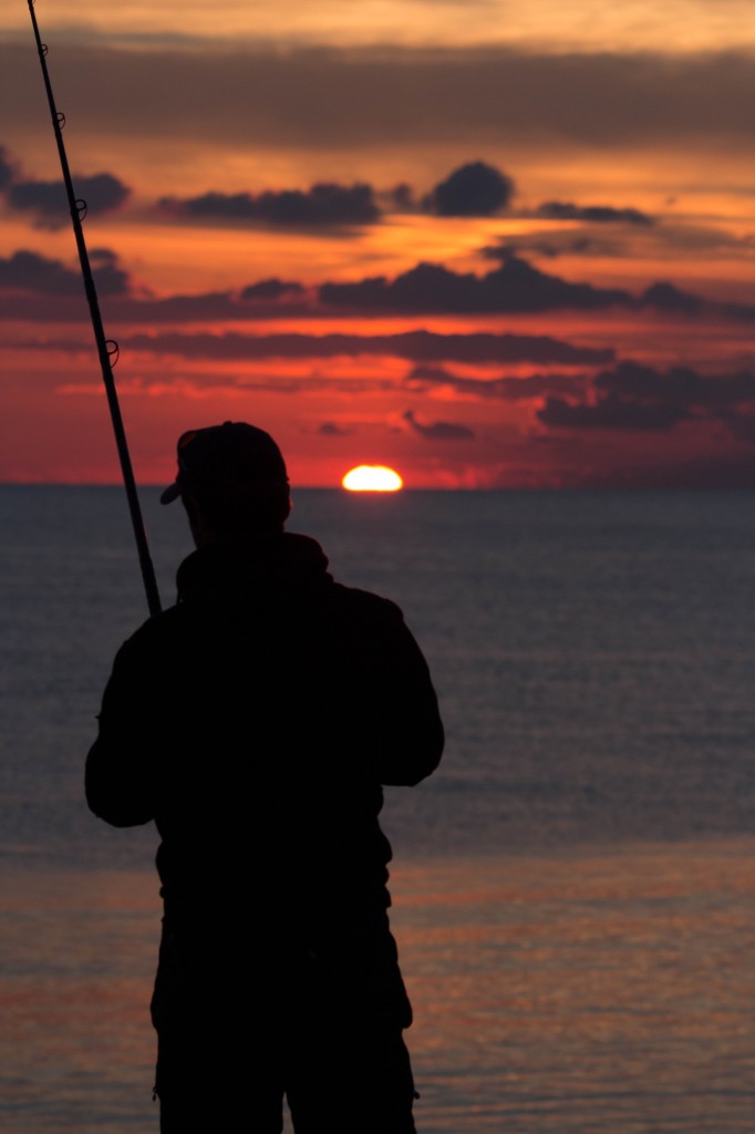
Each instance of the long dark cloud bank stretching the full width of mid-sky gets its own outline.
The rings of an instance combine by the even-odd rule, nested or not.
[[[321,318],[323,314],[489,314],[583,311],[600,314],[612,308],[696,318],[707,313],[733,321],[755,321],[755,305],[715,303],[668,281],[658,281],[635,295],[622,288],[602,288],[565,280],[535,268],[506,247],[485,249],[501,261],[499,266],[477,276],[456,272],[442,264],[419,263],[388,279],[368,277],[354,282],[325,282],[309,293],[302,284],[274,277],[248,284],[238,291],[154,296],[134,288],[129,273],[111,249],[91,253],[97,288],[112,297],[112,316],[125,322],[189,322],[194,320],[239,321],[253,318]],[[59,260],[20,249],[0,259],[0,289],[9,293],[0,318],[54,320],[56,313],[40,310],[36,294],[65,297],[80,295],[79,273]],[[28,298],[26,297],[28,296]],[[61,310],[58,318],[87,318],[83,305]]]

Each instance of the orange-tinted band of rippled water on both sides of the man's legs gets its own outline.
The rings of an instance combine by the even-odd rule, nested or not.
[[[752,1134],[753,850],[397,868],[422,1134]],[[154,1131],[152,877],[26,873],[7,894],[11,1128]]]

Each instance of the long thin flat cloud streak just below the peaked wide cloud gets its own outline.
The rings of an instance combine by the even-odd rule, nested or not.
[[[578,347],[548,336],[436,335],[135,335],[121,340],[133,350],[204,358],[332,358],[339,355],[382,355],[409,362],[534,362],[561,365],[604,365],[613,352]]]

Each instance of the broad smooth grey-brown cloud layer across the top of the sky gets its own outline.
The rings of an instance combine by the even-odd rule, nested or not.
[[[28,85],[0,44],[9,90]],[[507,49],[118,51],[61,44],[56,82],[86,129],[282,149],[532,137],[569,146],[752,142],[745,53],[533,54]],[[92,92],[96,91],[96,99]],[[19,129],[40,126],[20,100]]]

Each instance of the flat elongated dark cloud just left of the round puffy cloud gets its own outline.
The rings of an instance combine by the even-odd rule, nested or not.
[[[313,185],[306,191],[281,189],[257,196],[251,193],[204,193],[186,200],[162,197],[159,205],[173,215],[197,220],[262,222],[280,228],[372,225],[381,215],[372,186],[333,183]]]

